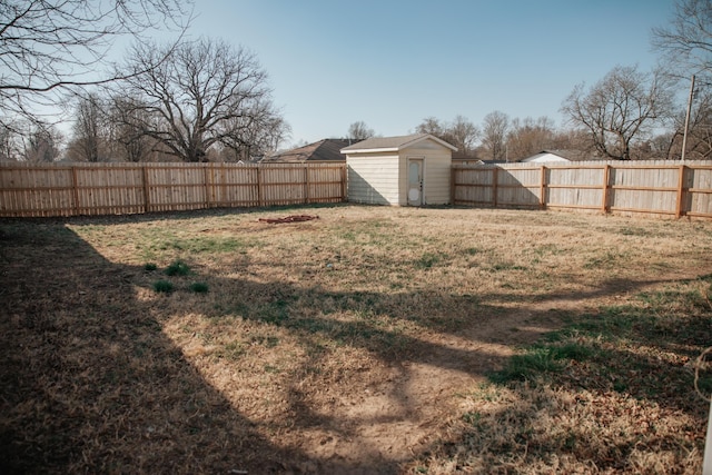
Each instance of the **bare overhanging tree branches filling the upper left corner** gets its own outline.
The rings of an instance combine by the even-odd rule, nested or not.
[[[75,87],[107,83],[118,37],[161,27],[184,30],[182,0],[3,0],[0,2],[0,120],[39,121],[36,107]],[[151,67],[155,65],[150,65]]]

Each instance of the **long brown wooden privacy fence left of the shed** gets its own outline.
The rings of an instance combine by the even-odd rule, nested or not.
[[[344,164],[0,164],[0,217],[339,202]]]

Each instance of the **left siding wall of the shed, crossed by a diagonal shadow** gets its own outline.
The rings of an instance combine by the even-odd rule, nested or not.
[[[346,166],[349,201],[369,205],[399,205],[397,155],[348,156]]]

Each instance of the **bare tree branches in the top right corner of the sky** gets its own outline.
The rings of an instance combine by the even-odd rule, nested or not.
[[[712,76],[712,6],[710,0],[676,0],[668,28],[653,29],[653,47],[678,76]]]

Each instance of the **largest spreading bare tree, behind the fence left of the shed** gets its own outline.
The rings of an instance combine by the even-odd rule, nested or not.
[[[201,38],[174,50],[137,46],[128,68],[144,71],[126,81],[123,95],[137,98],[131,107],[141,110],[126,116],[130,125],[185,161],[204,160],[216,144],[256,146],[250,136],[278,117],[255,55],[224,41]]]

